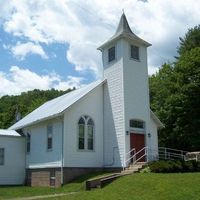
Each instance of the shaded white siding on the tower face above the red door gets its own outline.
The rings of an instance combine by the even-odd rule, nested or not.
[[[125,127],[129,131],[130,119],[145,122],[145,145],[149,145],[147,134],[150,132],[149,84],[147,72],[147,49],[139,47],[140,60],[130,59],[130,41],[123,42],[124,66],[124,105]],[[134,45],[137,45],[134,44]],[[130,150],[130,136],[126,136],[126,152]]]

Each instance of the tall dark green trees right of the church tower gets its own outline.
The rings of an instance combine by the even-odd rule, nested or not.
[[[150,77],[151,108],[165,128],[162,146],[186,150],[200,148],[200,26],[180,39],[179,57]]]

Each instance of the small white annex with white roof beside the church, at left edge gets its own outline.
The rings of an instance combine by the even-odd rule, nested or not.
[[[25,138],[13,130],[0,129],[0,185],[25,181]]]

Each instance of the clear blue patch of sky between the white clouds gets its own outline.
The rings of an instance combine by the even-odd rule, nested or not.
[[[39,54],[28,53],[24,58],[22,56],[13,55],[11,50],[7,49],[7,45],[15,46],[16,43],[26,43],[26,40],[6,33],[0,29],[0,66],[1,71],[9,73],[10,66],[16,65],[23,69],[29,69],[37,74],[57,73],[64,80],[68,75],[81,76],[74,69],[73,63],[69,63],[66,58],[66,51],[69,48],[67,43],[43,44],[42,48],[48,58],[42,58]],[[82,76],[81,76],[82,77]],[[91,73],[84,82],[91,82],[95,79]]]

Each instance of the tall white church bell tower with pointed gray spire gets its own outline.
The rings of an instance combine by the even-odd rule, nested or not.
[[[126,166],[124,158],[130,150],[131,120],[144,124],[144,134],[151,133],[149,89],[147,72],[147,47],[150,44],[136,36],[123,13],[114,35],[99,47],[102,52],[104,162],[115,156],[115,166]],[[136,128],[137,129],[137,128]],[[137,131],[136,131],[137,132]],[[149,145],[148,135],[144,144]],[[154,142],[153,140],[151,141]],[[131,147],[132,148],[132,147]]]

